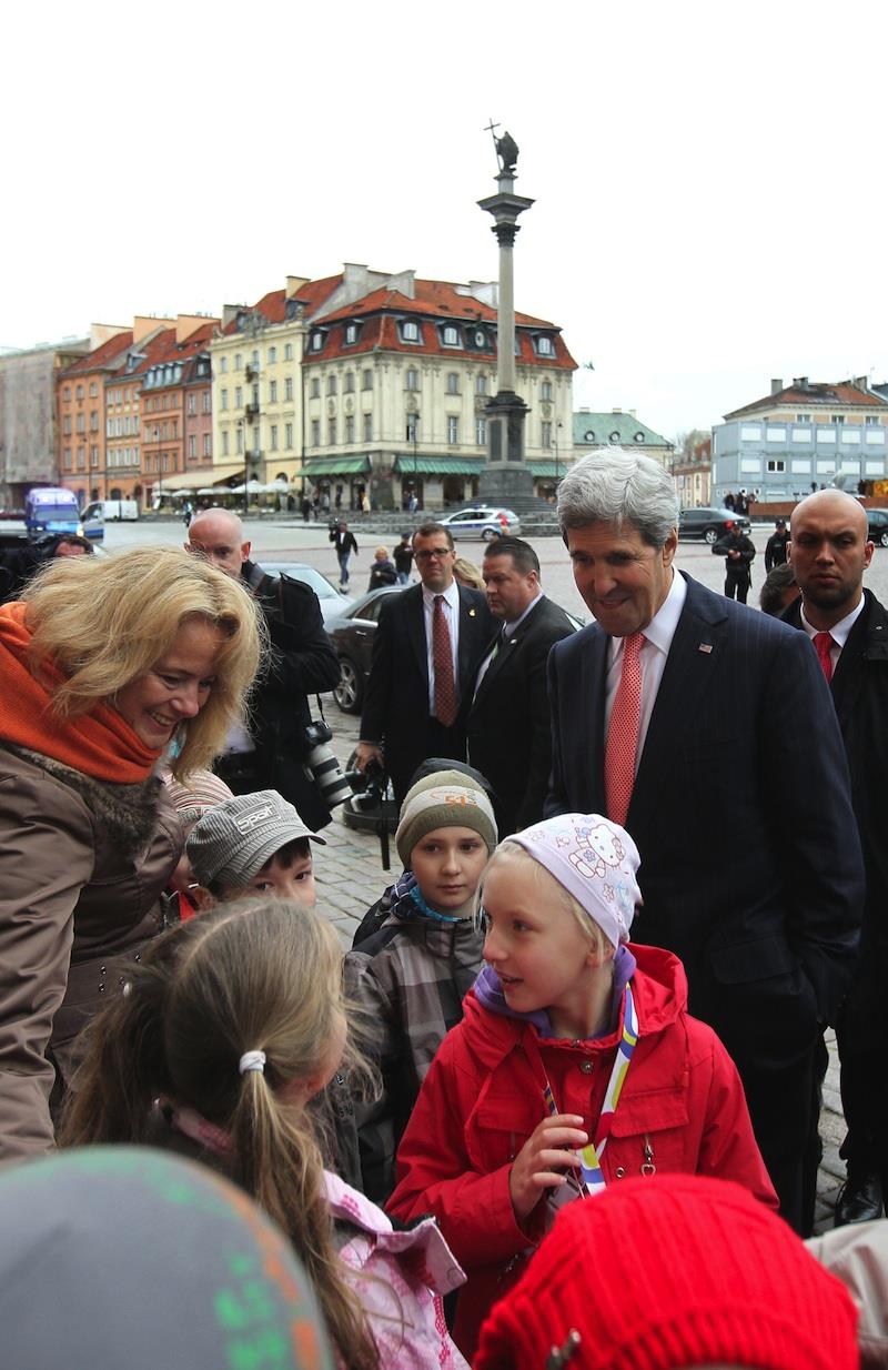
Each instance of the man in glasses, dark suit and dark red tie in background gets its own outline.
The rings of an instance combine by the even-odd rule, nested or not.
[[[426,756],[466,759],[466,715],[493,632],[480,590],[454,580],[454,538],[440,523],[414,533],[419,585],[388,595],[373,638],[356,766],[385,764],[400,804]]]

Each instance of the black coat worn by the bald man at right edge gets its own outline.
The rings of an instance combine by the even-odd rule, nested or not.
[[[848,758],[851,803],[866,869],[862,960],[874,952],[884,974],[888,971],[888,612],[870,590],[863,590],[863,600],[829,689]],[[800,600],[789,606],[782,619],[802,627]]]

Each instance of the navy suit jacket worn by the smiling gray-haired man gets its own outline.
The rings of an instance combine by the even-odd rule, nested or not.
[[[606,812],[607,647],[593,625],[550,655],[550,814]],[[692,1012],[718,1029],[725,1001],[782,986],[800,1010],[807,996],[810,1018],[810,985],[819,1018],[835,1021],[862,864],[841,736],[806,637],[688,580],[626,827],[644,896],[633,940],[681,956]]]

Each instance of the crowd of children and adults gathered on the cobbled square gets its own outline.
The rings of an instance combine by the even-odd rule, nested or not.
[[[730,596],[676,571],[645,458],[576,463],[559,519],[578,632],[521,538],[484,589],[441,525],[375,551],[371,586],[404,588],[358,766],[392,781],[402,870],[344,959],[314,885],[310,700],[338,667],[312,592],[206,510],[182,551],[52,559],[0,608],[11,1363],[888,1363],[866,518],[802,501],[769,614],[739,527]],[[330,540],[347,584],[354,534]],[[848,1181],[806,1244],[828,1023]],[[40,1280],[36,1318],[10,1291]]]

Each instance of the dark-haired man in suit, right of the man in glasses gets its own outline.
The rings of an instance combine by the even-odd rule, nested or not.
[[[545,662],[574,625],[543,593],[540,560],[519,537],[491,543],[481,574],[499,627],[478,670],[469,760],[493,786],[503,838],[543,818],[552,769]]]

